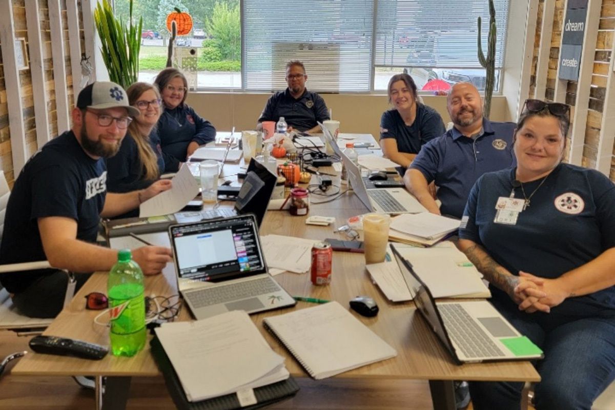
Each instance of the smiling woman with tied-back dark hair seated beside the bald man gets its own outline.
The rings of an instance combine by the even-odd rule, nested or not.
[[[416,84],[408,74],[395,74],[387,89],[389,104],[380,119],[380,146],[393,162],[408,167],[423,144],[446,132],[435,109],[418,101]]]

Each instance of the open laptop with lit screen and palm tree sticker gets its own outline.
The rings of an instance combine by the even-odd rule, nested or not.
[[[254,215],[169,227],[177,288],[195,318],[294,306],[268,273]]]

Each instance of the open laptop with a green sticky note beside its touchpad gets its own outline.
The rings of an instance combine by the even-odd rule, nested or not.
[[[542,358],[542,351],[487,301],[438,302],[412,265],[391,245],[416,309],[458,365]]]

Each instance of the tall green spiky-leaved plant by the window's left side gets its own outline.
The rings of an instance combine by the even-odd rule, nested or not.
[[[100,51],[109,71],[109,79],[124,89],[137,82],[139,75],[143,18],[139,18],[137,25],[133,24],[132,1],[126,23],[121,17],[118,20],[114,16],[110,0],[98,2],[94,10],[94,22],[102,44]]]

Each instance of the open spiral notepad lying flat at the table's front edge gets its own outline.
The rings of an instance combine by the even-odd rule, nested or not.
[[[264,325],[314,379],[397,356],[397,351],[338,302],[268,317]]]

